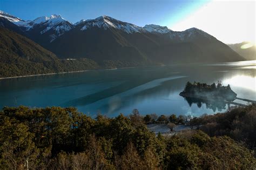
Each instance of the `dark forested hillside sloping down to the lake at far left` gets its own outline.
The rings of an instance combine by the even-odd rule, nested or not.
[[[0,27],[0,77],[97,69],[90,59],[60,60],[32,40]]]

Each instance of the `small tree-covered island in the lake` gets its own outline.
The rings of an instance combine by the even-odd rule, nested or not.
[[[230,85],[223,86],[219,81],[217,85],[215,83],[208,85],[206,83],[192,84],[187,82],[183,92],[179,94],[182,97],[199,98],[204,100],[226,100],[233,101],[237,98],[237,93],[231,90]]]

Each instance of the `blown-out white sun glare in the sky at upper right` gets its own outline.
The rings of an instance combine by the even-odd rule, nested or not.
[[[224,43],[255,43],[255,6],[252,1],[212,1],[170,28],[174,31],[196,27]]]

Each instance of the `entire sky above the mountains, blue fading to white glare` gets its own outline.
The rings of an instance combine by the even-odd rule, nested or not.
[[[255,1],[215,0],[0,0],[0,10],[24,20],[60,14],[72,23],[102,15],[138,26],[201,29],[224,43],[255,43]]]

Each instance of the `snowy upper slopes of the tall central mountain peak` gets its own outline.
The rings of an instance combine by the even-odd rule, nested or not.
[[[82,28],[80,29],[82,31],[91,29],[93,27],[98,27],[98,28],[103,28],[104,30],[110,29],[110,28],[118,29],[126,33],[146,32],[146,30],[140,26],[122,22],[108,16],[100,16],[96,19],[88,19],[86,21],[80,21],[79,24],[77,25],[79,26],[82,25]]]

